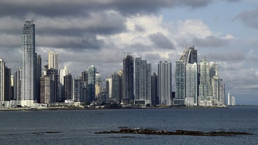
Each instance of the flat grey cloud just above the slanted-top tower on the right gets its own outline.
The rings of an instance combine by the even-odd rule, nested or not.
[[[216,38],[215,36],[207,36],[206,38],[193,38],[192,44],[199,47],[222,47],[228,45],[228,41],[223,38]]]

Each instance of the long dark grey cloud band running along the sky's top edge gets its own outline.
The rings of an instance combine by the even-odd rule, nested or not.
[[[234,1],[234,0],[228,0]],[[89,12],[103,10],[118,10],[121,14],[137,14],[157,12],[161,8],[173,8],[184,6],[189,8],[200,8],[213,3],[213,0],[63,0],[63,1],[0,1],[0,16],[87,16]]]

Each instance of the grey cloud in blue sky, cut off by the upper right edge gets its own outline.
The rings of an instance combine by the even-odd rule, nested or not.
[[[252,11],[241,12],[235,19],[241,20],[250,27],[258,28],[258,7]]]

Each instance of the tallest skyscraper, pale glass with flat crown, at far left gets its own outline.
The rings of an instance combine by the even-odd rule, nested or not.
[[[22,96],[21,106],[33,106],[36,100],[35,25],[26,20],[22,27]]]

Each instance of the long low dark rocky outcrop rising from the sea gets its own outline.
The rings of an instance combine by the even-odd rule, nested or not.
[[[252,133],[245,132],[228,132],[228,131],[164,131],[164,130],[153,130],[144,128],[127,128],[122,127],[120,131],[103,131],[98,133],[133,133],[133,134],[146,134],[146,135],[195,135],[195,136],[232,136],[232,135],[252,135]]]

